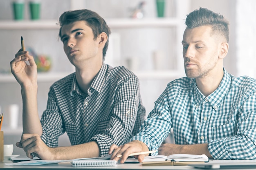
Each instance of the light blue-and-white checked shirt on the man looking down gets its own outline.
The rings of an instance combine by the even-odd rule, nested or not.
[[[157,150],[173,128],[175,144],[208,144],[214,159],[256,159],[256,80],[224,69],[219,87],[205,97],[195,79],[170,82],[141,131],[131,140]]]

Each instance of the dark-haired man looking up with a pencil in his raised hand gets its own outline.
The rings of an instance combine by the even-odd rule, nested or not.
[[[50,87],[41,120],[33,56],[20,49],[11,61],[23,102],[23,134],[16,146],[29,158],[48,160],[107,155],[112,144],[136,135],[144,121],[139,79],[123,66],[104,64],[110,29],[97,13],[67,11],[59,23],[63,49],[76,71]],[[64,132],[72,146],[57,147]]]

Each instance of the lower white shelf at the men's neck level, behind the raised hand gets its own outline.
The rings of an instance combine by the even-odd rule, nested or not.
[[[139,79],[170,79],[173,77],[180,77],[182,74],[180,71],[134,71],[135,75],[139,77]],[[38,73],[37,81],[38,82],[54,82],[57,81],[67,75],[71,74],[71,72],[59,72],[59,73]],[[16,79],[13,75],[0,75],[1,83],[9,83],[16,82]]]

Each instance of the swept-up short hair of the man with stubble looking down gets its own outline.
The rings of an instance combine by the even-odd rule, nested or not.
[[[190,29],[209,25],[212,27],[213,33],[224,36],[229,42],[229,22],[220,13],[200,7],[187,15],[185,24]]]

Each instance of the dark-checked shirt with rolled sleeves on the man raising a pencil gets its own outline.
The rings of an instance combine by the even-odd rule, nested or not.
[[[79,88],[75,73],[50,87],[41,139],[56,147],[58,137],[67,132],[72,145],[96,141],[103,156],[112,144],[125,144],[136,135],[144,119],[139,79],[123,66],[103,63],[88,95]]]

